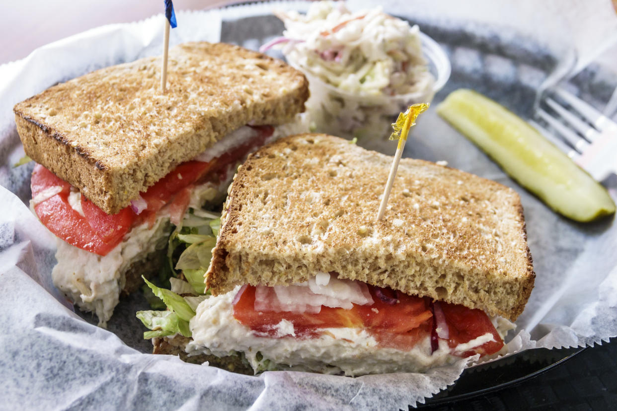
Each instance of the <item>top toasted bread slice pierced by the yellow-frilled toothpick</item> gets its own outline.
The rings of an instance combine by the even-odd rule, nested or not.
[[[405,158],[376,221],[391,162],[325,134],[255,152],[230,187],[207,286],[217,295],[337,272],[515,320],[535,278],[518,194]]]

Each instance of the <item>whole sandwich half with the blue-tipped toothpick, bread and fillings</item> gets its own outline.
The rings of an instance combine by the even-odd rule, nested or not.
[[[302,130],[308,84],[280,60],[230,44],[186,43],[107,67],[15,105],[38,163],[31,206],[58,238],[54,284],[105,325],[121,291],[165,263],[168,237],[204,224],[236,166]],[[219,203],[220,204],[220,203]],[[186,226],[186,224],[184,224]]]

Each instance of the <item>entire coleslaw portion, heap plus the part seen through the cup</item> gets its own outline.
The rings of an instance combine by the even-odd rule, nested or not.
[[[381,7],[350,12],[344,3],[331,1],[313,3],[305,15],[275,14],[286,30],[260,51],[280,48],[307,76],[307,111],[315,131],[381,138],[392,116],[433,99],[434,77],[418,26]]]

